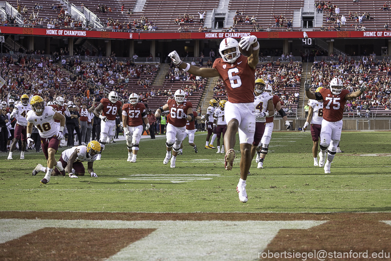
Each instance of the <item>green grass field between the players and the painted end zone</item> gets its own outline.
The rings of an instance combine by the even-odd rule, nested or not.
[[[143,139],[137,163],[126,162],[126,146],[117,142],[106,146],[102,160],[94,163],[97,178],[52,177],[47,185],[39,182],[43,172],[31,175],[36,164],[46,164],[43,153],[26,153],[25,160],[14,153],[12,161],[1,155],[0,211],[391,211],[390,155],[375,155],[391,152],[389,132],[343,132],[345,153],[336,155],[332,174],[313,166],[309,132],[274,133],[265,169],[252,162],[246,204],[236,192],[238,143],[239,157],[233,170],[226,171],[224,155],[205,150],[205,138],[205,133],[196,133],[198,154],[185,140],[175,169],[163,165],[165,137]]]

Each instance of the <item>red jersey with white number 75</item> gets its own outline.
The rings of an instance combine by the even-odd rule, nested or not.
[[[346,103],[345,96],[350,92],[342,90],[340,94],[334,95],[329,89],[322,88],[319,93],[323,97],[323,119],[331,122],[342,120]]]

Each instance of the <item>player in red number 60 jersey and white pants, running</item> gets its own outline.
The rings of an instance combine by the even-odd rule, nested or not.
[[[185,93],[178,89],[175,91],[174,100],[170,99],[165,105],[158,108],[155,112],[155,117],[158,118],[160,113],[169,110],[168,124],[166,127],[166,146],[167,152],[163,164],[167,164],[171,158],[171,168],[175,168],[176,156],[178,155],[180,145],[184,140],[187,121],[194,121],[194,115],[191,102],[184,100]]]

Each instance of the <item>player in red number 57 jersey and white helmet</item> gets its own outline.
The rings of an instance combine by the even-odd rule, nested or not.
[[[143,135],[143,122],[150,128],[144,103],[139,102],[139,95],[129,95],[129,103],[122,106],[123,134],[126,138],[127,161],[136,162],[141,135]]]

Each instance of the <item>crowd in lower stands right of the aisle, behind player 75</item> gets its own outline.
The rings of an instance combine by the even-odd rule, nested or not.
[[[362,56],[355,60],[351,57],[339,57],[338,61],[325,62],[315,60],[311,67],[311,81],[315,87],[328,86],[331,79],[343,79],[344,88],[355,91],[362,83],[367,83],[368,91],[360,98],[346,103],[347,112],[360,110],[383,109],[391,107],[391,61],[376,59],[376,55]],[[349,114],[351,115],[351,114]],[[369,114],[366,114],[369,116]]]

